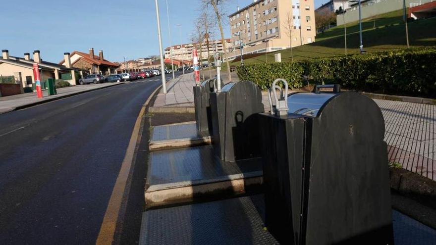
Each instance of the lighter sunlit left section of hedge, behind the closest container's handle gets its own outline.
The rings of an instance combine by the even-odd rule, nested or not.
[[[290,87],[301,87],[304,72],[303,67],[295,62],[238,66],[236,70],[241,81],[252,81],[262,90],[269,89],[277,78],[286,79]]]

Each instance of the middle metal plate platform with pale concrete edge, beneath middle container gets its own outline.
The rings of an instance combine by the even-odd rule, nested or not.
[[[212,146],[155,151],[148,164],[146,207],[258,192],[261,184],[260,158],[223,162]]]

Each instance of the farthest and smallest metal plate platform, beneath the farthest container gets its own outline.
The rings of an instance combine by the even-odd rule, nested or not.
[[[150,150],[180,148],[210,144],[211,137],[197,131],[195,122],[155,126],[152,130]]]

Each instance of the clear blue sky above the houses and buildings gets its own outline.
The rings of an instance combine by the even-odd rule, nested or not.
[[[201,12],[200,0],[167,1],[171,43],[189,43]],[[315,0],[315,7],[327,1]],[[228,0],[224,12],[230,14],[251,2]],[[159,55],[154,0],[7,0],[2,9],[0,49],[8,49],[12,56],[40,50],[42,59],[59,62],[64,52],[89,48],[95,53],[103,50],[110,61]],[[165,0],[159,0],[159,9],[164,49],[170,46]],[[230,37],[228,21],[224,31]],[[214,38],[219,38],[217,34]]]

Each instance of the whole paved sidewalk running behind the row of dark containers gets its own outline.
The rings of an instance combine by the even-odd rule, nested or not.
[[[155,107],[194,107],[193,73],[167,83]],[[436,106],[411,102],[374,99],[385,121],[385,138],[390,162],[436,181]],[[265,110],[269,111],[268,94],[262,93]]]

